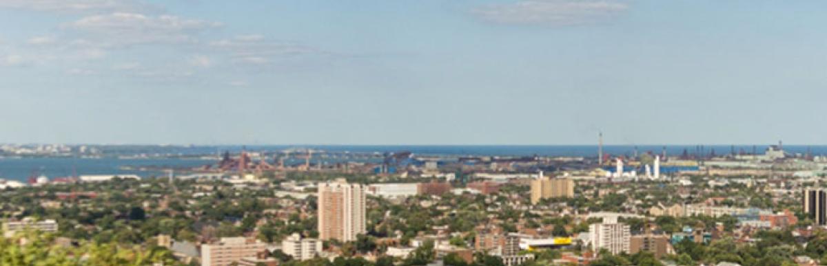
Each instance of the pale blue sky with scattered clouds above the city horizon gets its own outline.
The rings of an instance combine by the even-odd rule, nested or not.
[[[825,7],[0,0],[0,143],[827,144]]]

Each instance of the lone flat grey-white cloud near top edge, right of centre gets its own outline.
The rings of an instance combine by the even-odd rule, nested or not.
[[[519,0],[471,12],[485,21],[505,24],[571,26],[603,21],[627,8],[625,3],[612,0]]]

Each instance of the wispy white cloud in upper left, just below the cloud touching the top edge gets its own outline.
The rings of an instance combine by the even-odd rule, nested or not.
[[[69,24],[71,28],[104,40],[100,45],[194,43],[199,32],[217,26],[221,24],[170,15],[147,16],[127,12],[83,17]]]

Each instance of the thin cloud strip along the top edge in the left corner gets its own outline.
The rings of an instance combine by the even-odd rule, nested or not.
[[[135,12],[154,9],[132,0],[0,0],[0,8],[46,12]]]

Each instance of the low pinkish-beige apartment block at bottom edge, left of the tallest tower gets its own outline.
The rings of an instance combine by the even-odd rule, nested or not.
[[[224,237],[215,244],[201,246],[201,265],[228,266],[247,257],[256,257],[267,245],[244,237]]]

